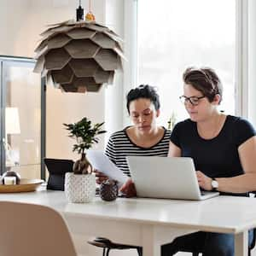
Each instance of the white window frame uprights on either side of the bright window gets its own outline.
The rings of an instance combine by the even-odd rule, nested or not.
[[[125,55],[124,94],[137,84],[137,1],[124,1]],[[235,114],[248,117],[248,0],[236,0]],[[125,118],[125,103],[123,125]]]

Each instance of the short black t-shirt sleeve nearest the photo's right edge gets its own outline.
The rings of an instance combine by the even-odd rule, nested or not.
[[[237,120],[236,146],[239,147],[247,139],[256,135],[253,125],[246,119]]]

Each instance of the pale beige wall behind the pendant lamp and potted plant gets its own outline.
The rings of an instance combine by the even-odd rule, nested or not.
[[[91,1],[91,9],[98,22],[104,23],[106,5],[104,0]],[[0,55],[33,57],[46,25],[75,19],[77,0],[1,0],[0,1]],[[84,12],[88,1],[82,0]],[[18,92],[17,92],[18,93]],[[46,156],[55,158],[78,158],[72,153],[74,141],[67,137],[62,123],[75,122],[87,116],[92,122],[104,121],[104,90],[99,93],[61,93],[47,89]],[[103,148],[104,139],[98,148]]]

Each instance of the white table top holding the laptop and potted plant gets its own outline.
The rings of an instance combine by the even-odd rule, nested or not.
[[[118,198],[90,203],[68,203],[63,191],[42,190],[30,193],[1,194],[0,201],[20,201],[54,208],[65,215],[108,218],[141,224],[176,228],[239,233],[256,227],[256,199],[218,196],[206,201]]]

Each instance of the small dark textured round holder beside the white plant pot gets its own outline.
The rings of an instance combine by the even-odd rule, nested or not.
[[[100,196],[103,201],[114,201],[119,195],[119,187],[117,181],[108,179],[101,184]]]

